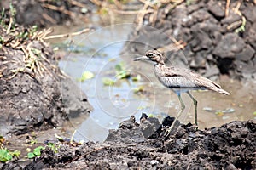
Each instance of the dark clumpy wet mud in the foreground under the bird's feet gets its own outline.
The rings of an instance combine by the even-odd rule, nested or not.
[[[156,122],[156,118],[148,118],[138,124],[131,118],[122,122],[119,129],[110,131],[103,144],[88,142],[76,148],[61,145],[57,153],[48,148],[25,169],[253,169],[256,166],[255,122],[230,122],[204,131],[182,124],[169,136],[164,135],[165,128]],[[156,131],[146,139],[143,134],[152,127]]]

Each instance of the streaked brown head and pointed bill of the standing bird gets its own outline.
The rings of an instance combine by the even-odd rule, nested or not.
[[[138,58],[133,59],[133,60],[134,61],[148,60],[148,61],[153,61],[156,64],[161,64],[161,65],[165,64],[163,55],[157,50],[148,50],[147,53],[144,56],[138,57]]]

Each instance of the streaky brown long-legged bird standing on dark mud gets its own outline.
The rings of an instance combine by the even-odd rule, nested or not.
[[[186,93],[189,95],[190,99],[193,100],[195,107],[195,125],[197,126],[197,100],[190,94],[191,90],[212,90],[220,94],[230,95],[229,92],[225,91],[216,82],[212,82],[206,77],[202,77],[195,71],[191,71],[186,68],[179,68],[175,66],[166,66],[165,58],[158,50],[148,50],[144,56],[137,57],[133,59],[134,61],[146,60],[152,61],[154,63],[154,74],[158,80],[166,86],[166,88],[172,89],[172,91],[177,94],[180,102],[180,111],[178,111],[177,116],[172,122],[171,127],[167,130],[168,133],[172,131],[175,123],[177,122],[179,116],[182,115],[185,105],[181,94]]]

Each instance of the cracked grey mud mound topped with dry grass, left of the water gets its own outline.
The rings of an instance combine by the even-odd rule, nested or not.
[[[55,54],[44,42],[46,31],[4,22],[0,27],[1,135],[59,127],[67,116],[88,114],[91,107],[85,94],[56,66]]]

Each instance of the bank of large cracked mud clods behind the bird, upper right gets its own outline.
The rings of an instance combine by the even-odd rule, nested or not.
[[[228,74],[255,80],[256,4],[230,1],[226,8],[226,2],[145,4],[145,9],[154,7],[157,12],[138,16],[141,25],[131,33],[124,53],[144,54],[158,48],[169,62],[189,65],[205,77]],[[176,48],[170,46],[173,38],[181,41]]]

